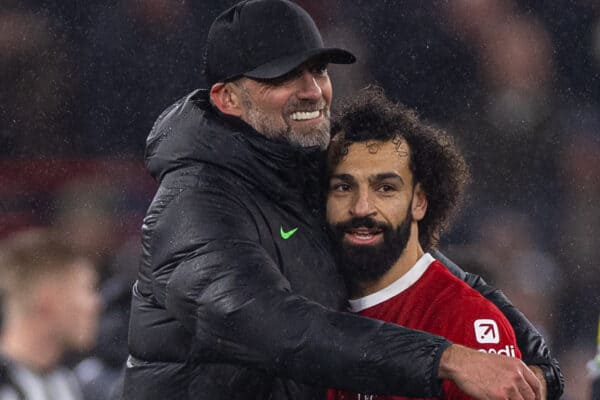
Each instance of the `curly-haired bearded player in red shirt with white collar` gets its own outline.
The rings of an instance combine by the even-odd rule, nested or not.
[[[449,137],[376,89],[341,114],[327,222],[350,308],[481,352],[520,357],[508,320],[426,252],[457,208],[467,167]],[[331,391],[330,399],[399,398]],[[470,399],[449,381],[439,398]]]

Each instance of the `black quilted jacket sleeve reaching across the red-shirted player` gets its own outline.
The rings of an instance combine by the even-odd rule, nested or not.
[[[432,397],[445,339],[335,312],[295,294],[223,189],[187,189],[153,233],[157,301],[194,336],[200,362],[322,387]],[[316,283],[318,284],[318,283]]]

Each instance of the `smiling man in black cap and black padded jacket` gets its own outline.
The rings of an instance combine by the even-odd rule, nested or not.
[[[242,1],[217,17],[210,89],[165,110],[147,140],[160,187],[142,227],[125,399],[323,399],[328,387],[432,397],[441,378],[479,399],[540,398],[518,360],[333,311],[346,292],[321,213],[326,66],[353,61],[287,0]],[[512,312],[528,362],[550,365]]]

